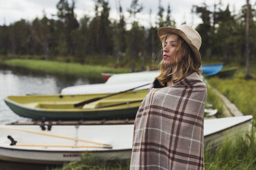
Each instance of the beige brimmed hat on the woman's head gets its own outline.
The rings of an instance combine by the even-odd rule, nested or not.
[[[160,27],[158,29],[158,36],[162,36],[164,34],[174,33],[182,37],[186,43],[188,43],[189,47],[191,47],[192,51],[195,54],[195,59],[201,65],[201,55],[199,52],[202,39],[195,29],[189,27],[188,25],[181,25],[180,27]]]

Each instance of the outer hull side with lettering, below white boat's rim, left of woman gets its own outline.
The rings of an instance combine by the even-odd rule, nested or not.
[[[41,151],[0,147],[0,160],[37,164],[63,164],[81,160],[81,156],[99,160],[128,160],[131,149],[116,151]]]

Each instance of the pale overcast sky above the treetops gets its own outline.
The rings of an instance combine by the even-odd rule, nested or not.
[[[0,0],[0,25],[6,23],[14,23],[20,19],[32,21],[37,17],[41,18],[43,12],[46,16],[52,18],[52,14],[56,14],[56,3],[59,0]],[[164,10],[167,10],[167,5],[171,6],[171,16],[175,19],[177,26],[186,21],[188,25],[195,27],[201,20],[195,14],[191,14],[192,5],[202,5],[206,2],[207,5],[213,6],[214,2],[220,0],[162,0],[162,6]],[[254,4],[256,0],[250,0],[250,3]],[[158,0],[138,0],[143,5],[144,9],[141,14],[138,15],[138,19],[141,25],[149,26],[149,23],[156,21],[156,14],[158,12]],[[242,5],[246,3],[246,0],[222,0],[222,4],[226,7],[230,5],[230,10],[237,13]],[[125,12],[126,19],[129,18],[127,9],[131,5],[131,0],[120,0],[122,9]],[[118,17],[118,0],[109,0],[109,6],[111,7],[110,18],[116,19]],[[223,7],[223,8],[224,8]],[[149,17],[149,11],[152,10],[151,18]],[[77,19],[81,19],[85,14],[89,16],[94,15],[94,0],[76,0],[76,15]],[[193,18],[193,23],[191,22]]]

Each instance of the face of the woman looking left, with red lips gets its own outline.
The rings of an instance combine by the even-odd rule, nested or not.
[[[178,46],[178,36],[175,34],[169,34],[167,36],[167,39],[164,42],[164,49],[163,49],[163,60],[164,60],[164,64],[166,66],[172,66],[173,64],[175,64],[175,52]],[[176,57],[178,62],[180,62],[182,60],[182,55],[181,55],[181,51],[179,50],[178,53],[176,53]]]

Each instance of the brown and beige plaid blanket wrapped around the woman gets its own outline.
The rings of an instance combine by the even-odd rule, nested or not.
[[[204,169],[206,95],[198,73],[150,88],[134,123],[130,169]]]

